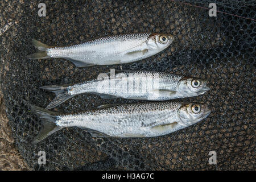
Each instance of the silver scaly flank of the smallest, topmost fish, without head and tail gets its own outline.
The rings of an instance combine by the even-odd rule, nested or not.
[[[73,46],[49,48],[47,53],[51,57],[65,57],[85,61],[86,63],[94,59],[121,59],[116,54],[128,51],[131,48],[138,47],[139,50],[146,48],[144,46],[139,48],[139,46],[146,42],[150,35],[151,33],[135,33],[107,36]],[[138,57],[138,59],[140,58]]]

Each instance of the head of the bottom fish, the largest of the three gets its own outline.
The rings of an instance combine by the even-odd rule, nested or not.
[[[180,125],[191,126],[207,118],[210,112],[206,104],[184,104],[178,110]]]

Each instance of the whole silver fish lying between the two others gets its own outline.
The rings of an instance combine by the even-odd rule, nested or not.
[[[101,74],[103,75],[100,76]],[[69,98],[82,93],[97,94],[102,99],[126,98],[166,101],[200,96],[210,90],[206,79],[167,72],[115,71],[110,69],[109,73],[101,74],[96,79],[78,84],[40,87],[56,95],[46,109],[52,109]]]

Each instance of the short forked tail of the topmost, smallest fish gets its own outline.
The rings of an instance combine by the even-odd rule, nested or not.
[[[48,56],[47,49],[52,48],[52,46],[48,46],[38,40],[32,39],[32,44],[39,50],[39,52],[32,53],[28,55],[28,59],[47,59],[51,56]]]

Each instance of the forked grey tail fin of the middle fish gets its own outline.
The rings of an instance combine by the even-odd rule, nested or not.
[[[50,85],[50,86],[42,86],[40,89],[48,90],[50,92],[55,93],[56,97],[48,104],[46,109],[52,109],[60,105],[61,103],[67,101],[69,98],[72,98],[74,95],[68,94],[67,87],[63,85]]]

